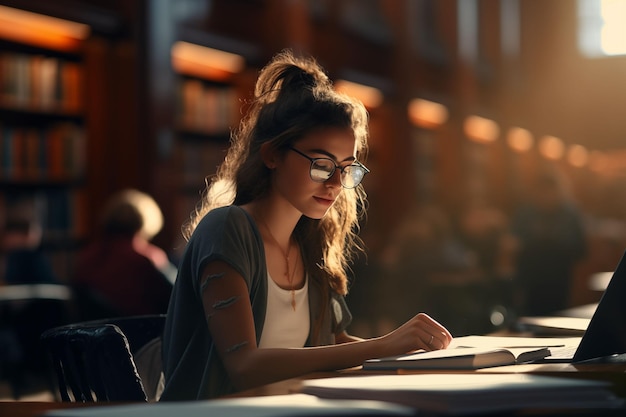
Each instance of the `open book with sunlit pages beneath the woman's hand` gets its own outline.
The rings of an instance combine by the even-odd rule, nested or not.
[[[514,365],[543,359],[550,356],[550,348],[569,343],[573,343],[569,338],[464,336],[455,338],[448,349],[370,359],[363,363],[363,369],[480,369]]]

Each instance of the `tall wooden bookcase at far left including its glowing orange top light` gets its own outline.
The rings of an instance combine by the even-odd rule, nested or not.
[[[106,97],[94,94],[93,86],[102,83],[93,79],[101,64],[94,60],[94,45],[106,39],[103,27],[116,25],[110,14],[91,22],[91,6],[85,5],[70,11],[77,19],[66,22],[83,28],[83,37],[49,29],[45,18],[67,17],[64,5],[0,5],[0,215],[41,226],[41,247],[62,282],[72,273],[100,204],[93,198],[100,192],[93,187],[92,162],[99,149],[93,140],[106,111],[94,103]],[[5,19],[14,12],[35,13],[37,19],[22,17],[11,26]]]

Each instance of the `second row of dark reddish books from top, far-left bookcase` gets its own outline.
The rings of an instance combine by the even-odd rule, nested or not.
[[[68,181],[84,177],[86,140],[82,126],[59,122],[48,127],[0,125],[0,179]]]

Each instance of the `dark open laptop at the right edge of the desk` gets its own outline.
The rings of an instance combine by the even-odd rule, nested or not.
[[[569,351],[569,352],[568,352]],[[626,252],[611,276],[600,302],[577,346],[551,349],[541,363],[582,361],[626,362]]]

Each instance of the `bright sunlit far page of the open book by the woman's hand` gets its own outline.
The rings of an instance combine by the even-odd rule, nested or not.
[[[578,346],[580,337],[516,337],[516,336],[461,336],[452,339],[448,349],[475,348],[531,348]]]

